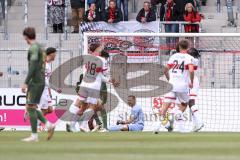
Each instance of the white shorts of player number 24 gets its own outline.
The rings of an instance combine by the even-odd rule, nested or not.
[[[176,100],[179,100],[180,103],[188,103],[189,95],[187,92],[169,92],[164,95],[164,102],[174,103]]]

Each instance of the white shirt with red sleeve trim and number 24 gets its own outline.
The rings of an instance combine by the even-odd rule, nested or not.
[[[173,92],[189,91],[189,65],[193,65],[193,57],[187,53],[172,55],[167,63],[169,70],[169,83],[172,84]]]

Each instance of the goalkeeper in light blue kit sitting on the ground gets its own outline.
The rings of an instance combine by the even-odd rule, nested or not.
[[[108,130],[111,131],[142,131],[144,128],[144,114],[141,106],[136,104],[136,97],[128,96],[128,105],[132,108],[128,120],[117,121],[117,125],[110,126]]]

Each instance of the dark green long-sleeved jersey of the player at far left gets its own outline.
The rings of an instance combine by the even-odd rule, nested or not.
[[[45,84],[45,58],[42,46],[32,44],[28,50],[28,75],[25,84]]]

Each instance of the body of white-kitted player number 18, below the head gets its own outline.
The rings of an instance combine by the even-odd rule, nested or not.
[[[83,74],[83,80],[80,84],[79,98],[70,107],[70,112],[74,114],[72,122],[70,124],[70,130],[75,130],[75,125],[80,122],[80,128],[85,131],[88,129],[88,121],[95,113],[100,97],[100,88],[102,82],[107,82],[118,86],[118,83],[114,79],[110,80],[110,77],[105,77],[103,74],[106,59],[101,56],[89,55],[85,71]],[[68,127],[68,126],[67,126]]]

